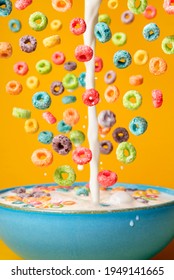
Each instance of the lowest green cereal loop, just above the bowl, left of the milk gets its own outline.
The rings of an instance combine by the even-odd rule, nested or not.
[[[62,174],[68,174],[67,179],[63,179]],[[76,180],[76,173],[69,165],[62,165],[54,172],[54,181],[60,186],[71,186]]]

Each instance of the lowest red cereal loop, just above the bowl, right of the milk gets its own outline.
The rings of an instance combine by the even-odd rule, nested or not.
[[[103,187],[112,186],[117,182],[117,174],[110,170],[102,170],[98,173],[98,182]]]

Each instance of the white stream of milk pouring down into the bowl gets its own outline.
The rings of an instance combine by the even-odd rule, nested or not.
[[[102,0],[85,0],[85,21],[87,30],[84,34],[84,44],[93,49],[93,58],[85,63],[86,89],[95,88],[95,36],[94,26],[98,22],[98,11]],[[88,107],[88,141],[92,151],[90,162],[90,190],[94,204],[99,203],[99,184],[97,180],[99,169],[100,147],[98,140],[98,121],[96,107]]]

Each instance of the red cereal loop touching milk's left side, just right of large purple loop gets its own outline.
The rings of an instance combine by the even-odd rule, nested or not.
[[[88,148],[78,147],[73,151],[72,159],[77,164],[80,164],[80,165],[87,164],[92,159],[92,152]]]

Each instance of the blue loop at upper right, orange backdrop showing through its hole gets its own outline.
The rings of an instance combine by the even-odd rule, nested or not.
[[[147,41],[154,41],[158,39],[160,35],[160,29],[156,23],[149,23],[143,28],[143,37]]]

